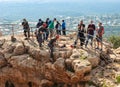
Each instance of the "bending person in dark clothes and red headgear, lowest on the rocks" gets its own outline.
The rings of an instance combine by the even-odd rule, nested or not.
[[[51,39],[48,43],[48,47],[50,48],[50,58],[51,58],[50,61],[51,62],[54,62],[54,55],[53,55],[54,46],[58,39],[59,39],[59,35],[57,35],[55,38]]]

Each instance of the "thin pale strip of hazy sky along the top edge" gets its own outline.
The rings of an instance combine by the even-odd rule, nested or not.
[[[120,0],[0,0],[0,2],[120,2]]]

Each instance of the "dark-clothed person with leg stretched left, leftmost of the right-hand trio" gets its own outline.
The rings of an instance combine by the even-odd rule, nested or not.
[[[76,47],[77,41],[78,39],[80,39],[80,46],[82,48],[82,46],[84,45],[84,41],[85,41],[85,24],[83,24],[83,20],[80,21],[80,24],[78,24],[78,34],[77,34],[77,39],[74,42],[74,46]]]

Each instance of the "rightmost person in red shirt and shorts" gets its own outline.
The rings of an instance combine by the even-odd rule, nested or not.
[[[97,31],[97,34],[96,34],[97,48],[96,49],[99,49],[99,45],[101,45],[100,50],[102,51],[102,48],[103,48],[103,45],[102,45],[102,36],[104,34],[104,27],[102,26],[101,22],[99,22],[98,29],[96,31]]]

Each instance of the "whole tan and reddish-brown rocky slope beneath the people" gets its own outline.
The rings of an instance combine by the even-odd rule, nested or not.
[[[120,75],[120,48],[101,53],[71,48],[71,35],[61,36],[51,63],[47,42],[39,49],[34,37],[16,38],[14,43],[9,36],[0,40],[0,87],[119,87],[115,78]]]

